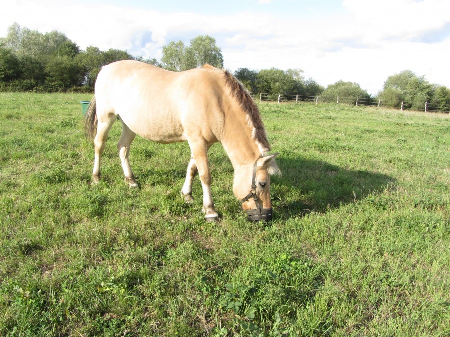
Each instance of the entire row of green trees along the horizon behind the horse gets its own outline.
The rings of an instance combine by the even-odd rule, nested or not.
[[[42,34],[21,27],[18,23],[8,27],[7,35],[0,38],[0,90],[34,92],[92,92],[101,67],[124,59],[138,60],[172,70],[184,71],[209,63],[223,67],[223,55],[216,40],[200,35],[184,42],[171,41],[162,48],[162,57],[145,59],[130,55],[125,50],[101,51],[95,46],[80,50],[63,33],[52,31]],[[326,88],[312,78],[304,78],[301,69],[277,68],[252,70],[239,68],[234,75],[250,92],[263,95],[300,95],[342,100],[363,100],[364,104],[395,106],[403,101],[405,108],[423,110],[450,110],[450,89],[430,84],[424,76],[410,70],[389,76],[382,90],[372,97],[358,83],[338,81]]]

